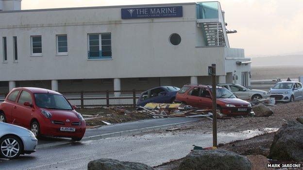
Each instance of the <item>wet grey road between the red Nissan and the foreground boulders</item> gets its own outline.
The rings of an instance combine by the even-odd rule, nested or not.
[[[218,142],[248,139],[260,133],[218,134]],[[37,150],[15,160],[0,160],[0,170],[86,170],[87,163],[99,158],[135,161],[156,166],[187,155],[193,144],[212,146],[212,134],[146,133]]]

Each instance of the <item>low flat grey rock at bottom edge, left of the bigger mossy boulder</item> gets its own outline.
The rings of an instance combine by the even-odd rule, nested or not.
[[[137,162],[122,162],[115,159],[90,161],[87,170],[154,170],[152,167]]]

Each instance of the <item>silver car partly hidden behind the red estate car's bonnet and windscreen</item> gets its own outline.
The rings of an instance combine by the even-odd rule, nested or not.
[[[269,98],[269,93],[263,90],[251,90],[243,87],[239,84],[218,84],[218,86],[225,87],[233,94],[235,94],[239,99],[252,101],[258,99]]]

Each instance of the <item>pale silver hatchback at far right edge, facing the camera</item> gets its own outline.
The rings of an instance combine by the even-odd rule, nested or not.
[[[281,102],[303,100],[302,83],[294,81],[279,82],[269,90],[269,95],[274,97],[276,101]]]

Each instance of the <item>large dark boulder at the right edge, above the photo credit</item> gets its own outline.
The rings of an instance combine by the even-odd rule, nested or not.
[[[277,160],[303,161],[303,124],[288,121],[276,132],[269,157]]]

